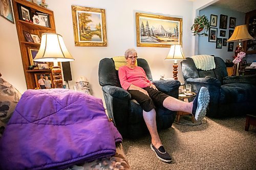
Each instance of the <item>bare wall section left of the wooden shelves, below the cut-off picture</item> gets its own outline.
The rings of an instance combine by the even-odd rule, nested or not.
[[[27,90],[16,27],[0,16],[0,72],[20,92]]]

